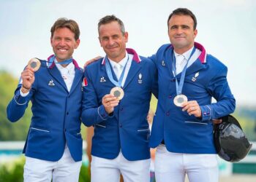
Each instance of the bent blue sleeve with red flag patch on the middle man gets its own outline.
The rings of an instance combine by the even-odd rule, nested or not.
[[[97,92],[94,90],[94,84],[91,81],[91,74],[89,69],[86,68],[83,78],[83,101],[82,101],[82,115],[81,119],[83,124],[91,127],[107,120],[110,116],[105,111],[102,104],[99,104]]]

